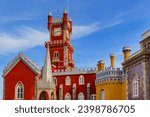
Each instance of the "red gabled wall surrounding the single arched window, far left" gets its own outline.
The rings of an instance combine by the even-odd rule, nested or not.
[[[35,73],[29,69],[22,61],[19,61],[17,65],[5,76],[5,99],[15,99],[15,86],[18,81],[21,81],[24,85],[24,99],[35,99]]]

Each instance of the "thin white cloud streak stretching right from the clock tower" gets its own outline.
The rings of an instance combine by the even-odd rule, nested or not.
[[[102,29],[110,28],[115,25],[118,25],[122,23],[122,20],[116,20],[116,21],[107,21],[107,22],[96,22],[91,25],[86,26],[73,26],[73,34],[72,39],[79,39],[85,36],[88,36],[94,32],[97,32]]]

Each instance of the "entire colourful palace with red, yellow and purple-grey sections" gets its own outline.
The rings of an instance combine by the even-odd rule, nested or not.
[[[70,42],[72,21],[65,10],[62,18],[48,15],[49,40],[42,69],[19,53],[3,71],[4,100],[132,100],[150,99],[150,30],[142,35],[141,49],[130,55],[123,47],[123,68],[104,60],[96,68],[74,66]]]

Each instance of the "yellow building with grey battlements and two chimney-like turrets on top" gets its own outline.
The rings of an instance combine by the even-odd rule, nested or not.
[[[97,64],[96,73],[96,100],[122,100],[125,99],[125,86],[122,85],[123,70],[115,66],[115,55],[110,55],[110,67],[105,67],[103,60]],[[124,83],[123,83],[124,84]],[[125,83],[126,85],[126,83]]]

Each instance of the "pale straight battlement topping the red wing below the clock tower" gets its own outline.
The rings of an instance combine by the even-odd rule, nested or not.
[[[74,68],[66,70],[54,70],[53,76],[59,75],[73,75],[73,74],[92,74],[96,73],[96,68]]]

